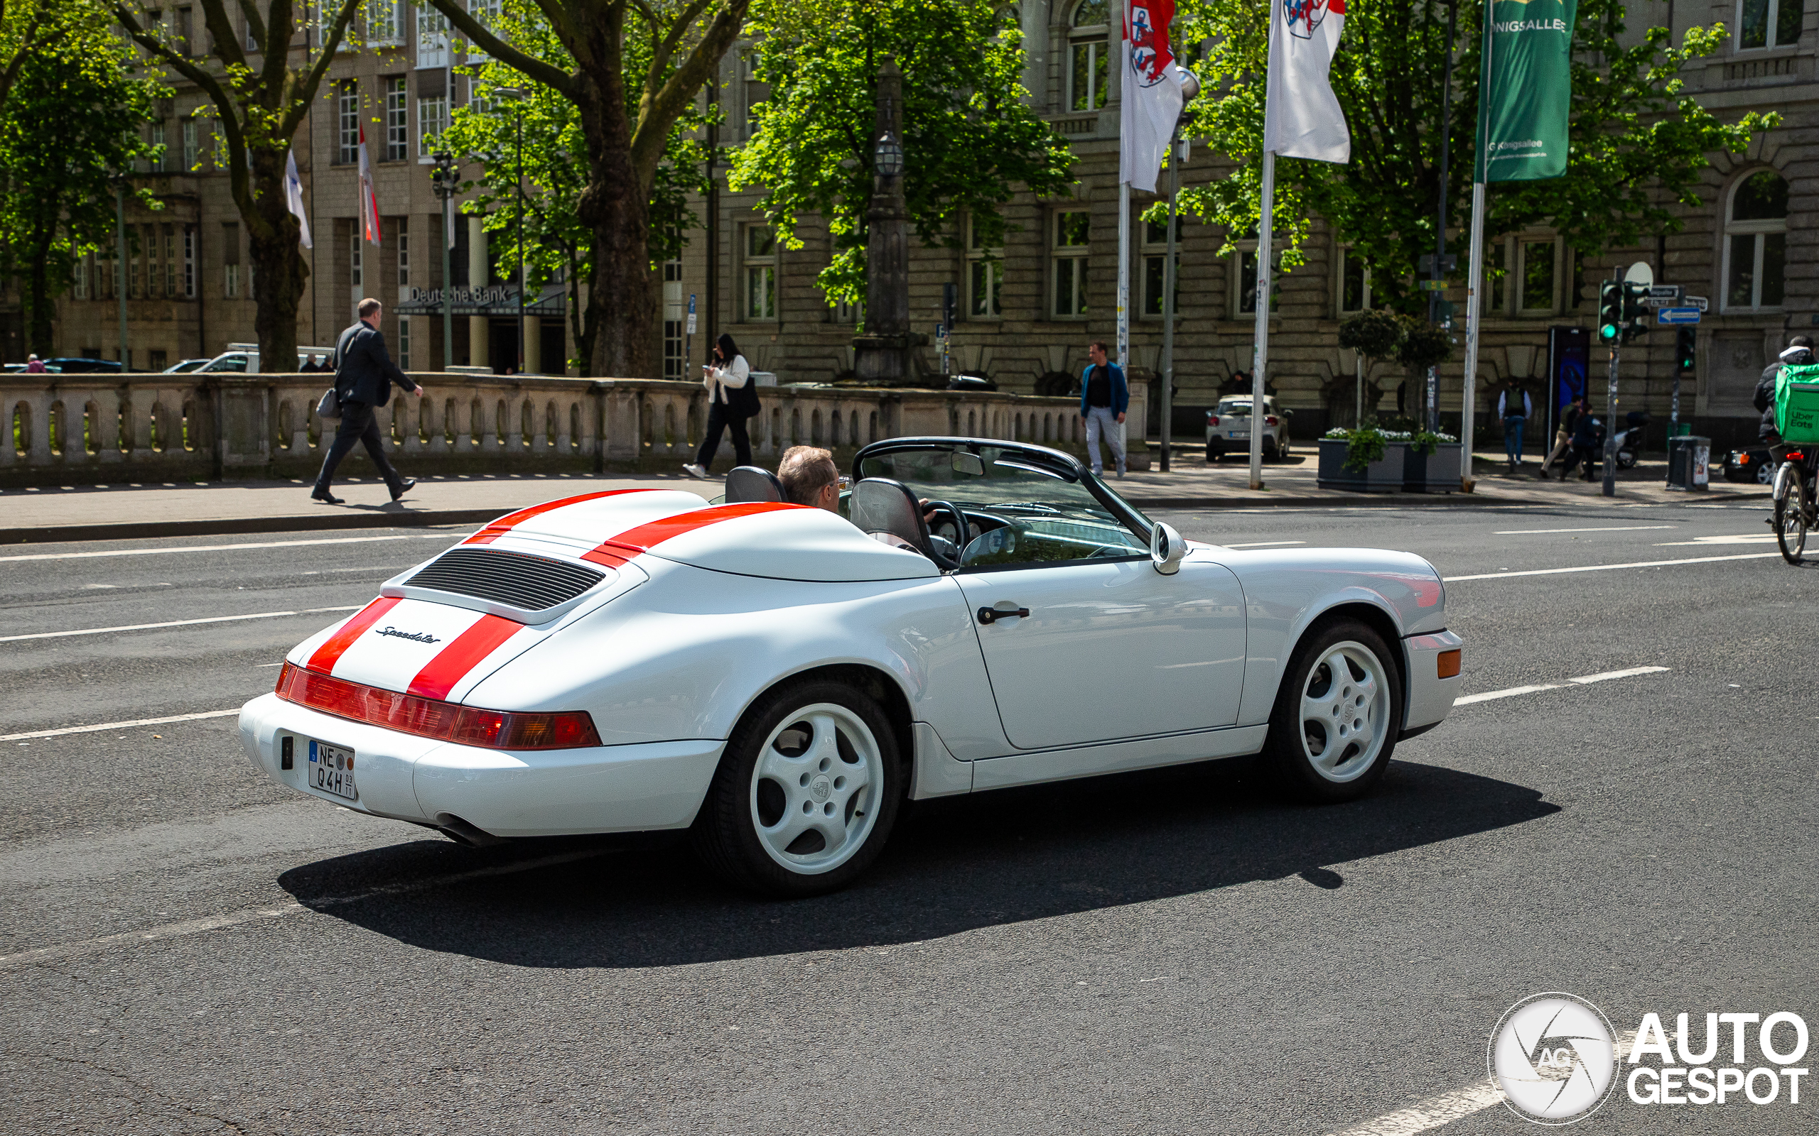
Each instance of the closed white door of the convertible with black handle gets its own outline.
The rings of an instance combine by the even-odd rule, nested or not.
[[[1011,745],[1048,749],[1235,725],[1244,593],[1190,553],[955,573]],[[980,622],[979,609],[993,609]],[[1028,611],[1028,614],[1008,614]],[[997,614],[1006,613],[1006,614]]]

